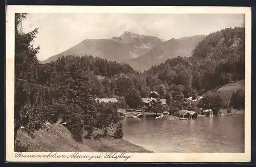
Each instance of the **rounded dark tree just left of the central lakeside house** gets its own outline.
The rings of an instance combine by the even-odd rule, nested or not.
[[[141,107],[143,103],[139,92],[135,88],[131,89],[127,93],[125,96],[125,101],[131,108],[134,109]]]

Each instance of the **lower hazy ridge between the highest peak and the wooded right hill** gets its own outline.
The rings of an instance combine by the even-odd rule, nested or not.
[[[182,57],[190,57],[198,43],[203,40],[205,35],[196,35],[192,37],[183,37],[179,39],[170,39],[155,46],[149,52],[138,58],[124,61],[122,63],[129,64],[135,70],[144,71],[151,66],[159,65],[167,59]]]

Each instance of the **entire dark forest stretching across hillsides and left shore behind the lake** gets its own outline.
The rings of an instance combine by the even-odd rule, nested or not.
[[[142,73],[129,65],[92,55],[67,55],[39,64],[39,47],[30,44],[38,30],[28,34],[18,30],[25,18],[26,14],[15,14],[15,134],[21,125],[28,132],[38,130],[51,114],[56,114],[70,122],[68,129],[81,140],[84,131],[90,137],[95,127],[106,130],[111,124],[119,124],[116,109],[127,107],[129,98],[141,99],[150,91],[157,91],[161,98],[166,98],[170,113],[175,114],[180,109],[199,107],[186,103],[185,98],[195,98],[245,77],[244,28],[212,33],[199,42],[191,57],[168,59]],[[241,100],[240,95],[241,92],[235,92],[234,101],[225,103],[218,96],[216,103],[207,106],[232,107]],[[117,104],[99,104],[94,100],[113,97],[118,99]],[[141,101],[129,105],[142,106]],[[121,124],[118,127],[122,129]]]

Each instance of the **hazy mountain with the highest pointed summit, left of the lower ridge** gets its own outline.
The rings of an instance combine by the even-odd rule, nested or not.
[[[111,61],[122,62],[136,58],[141,54],[150,51],[154,46],[163,43],[162,39],[153,36],[139,35],[131,32],[124,32],[119,37],[111,39],[86,39],[79,44],[53,55],[42,63],[49,63],[66,55],[93,55]]]

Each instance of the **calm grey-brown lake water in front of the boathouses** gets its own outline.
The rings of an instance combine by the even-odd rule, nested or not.
[[[244,152],[244,114],[193,120],[126,118],[123,139],[153,152]]]

